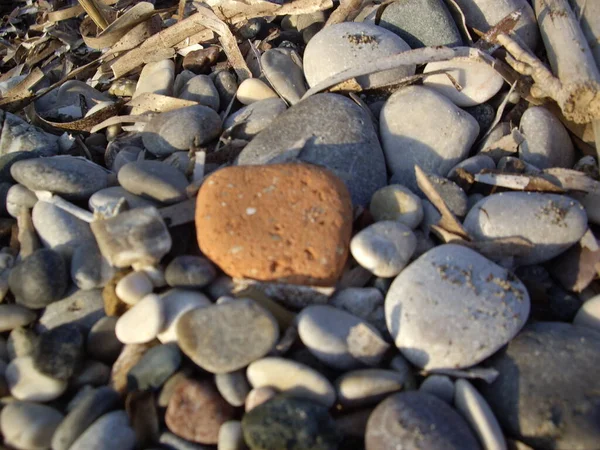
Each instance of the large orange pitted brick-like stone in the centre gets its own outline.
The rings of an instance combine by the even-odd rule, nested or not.
[[[329,286],[348,256],[352,203],[318,166],[233,166],[203,183],[196,228],[202,252],[232,277]]]

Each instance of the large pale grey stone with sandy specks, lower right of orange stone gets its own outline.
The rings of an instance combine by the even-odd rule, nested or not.
[[[390,334],[418,367],[469,367],[521,329],[529,294],[506,269],[466,247],[428,251],[394,280],[385,299]]]

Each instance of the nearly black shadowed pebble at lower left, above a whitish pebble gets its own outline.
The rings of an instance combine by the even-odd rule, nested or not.
[[[64,324],[40,334],[32,353],[35,368],[52,378],[67,381],[85,358],[84,336],[77,325]]]

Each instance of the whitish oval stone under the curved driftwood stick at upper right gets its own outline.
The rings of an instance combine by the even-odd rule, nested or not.
[[[495,69],[483,61],[453,59],[436,61],[425,66],[423,73],[445,71],[453,77],[462,90],[458,91],[446,74],[428,75],[423,86],[436,90],[460,107],[475,106],[487,102],[504,85],[504,79]]]

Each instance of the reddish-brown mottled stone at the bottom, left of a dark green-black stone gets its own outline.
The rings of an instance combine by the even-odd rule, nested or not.
[[[169,399],[165,422],[171,432],[188,441],[217,444],[219,428],[235,417],[235,409],[208,381],[184,379]]]

